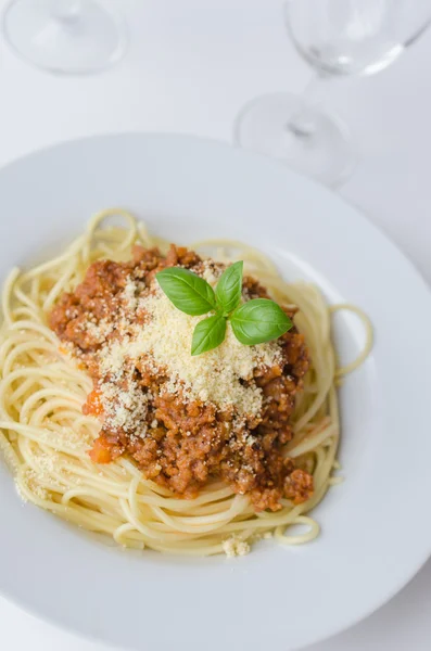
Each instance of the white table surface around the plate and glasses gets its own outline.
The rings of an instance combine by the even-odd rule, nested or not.
[[[130,30],[126,58],[107,73],[50,76],[23,64],[0,43],[0,165],[92,133],[177,131],[230,141],[232,120],[249,99],[275,90],[299,92],[310,77],[284,33],[281,0],[106,1],[117,4]],[[340,193],[403,248],[428,282],[430,61],[431,31],[384,73],[329,82],[327,102],[351,126],[360,155]],[[415,535],[415,523],[408,526]],[[310,651],[428,651],[430,613],[431,561],[380,611]],[[2,598],[0,648],[107,650]],[[179,642],[178,651],[182,649]]]

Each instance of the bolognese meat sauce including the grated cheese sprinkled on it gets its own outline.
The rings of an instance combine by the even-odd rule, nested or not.
[[[277,342],[242,346],[228,332],[219,348],[192,358],[199,318],[168,304],[155,279],[173,266],[208,282],[226,268],[175,245],[167,255],[136,246],[129,261],[92,264],[50,315],[51,329],[93,381],[83,407],[101,421],[92,461],[128,455],[145,478],[185,498],[221,480],[256,511],[277,511],[282,498],[307,500],[313,476],[283,455],[309,367],[303,335],[293,328]],[[256,297],[267,291],[245,277],[243,299]]]

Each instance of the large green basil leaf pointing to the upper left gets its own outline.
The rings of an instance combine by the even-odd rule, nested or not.
[[[197,317],[216,309],[213,288],[189,269],[168,267],[159,271],[155,278],[175,307],[187,315]]]

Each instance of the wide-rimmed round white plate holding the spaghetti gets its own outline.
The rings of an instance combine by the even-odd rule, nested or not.
[[[123,135],[62,144],[0,173],[0,273],[122,205],[165,238],[241,239],[287,278],[360,305],[376,347],[341,393],[345,483],[301,548],[183,560],[122,551],[33,506],[0,468],[0,589],[40,616],[122,648],[295,649],[357,622],[431,551],[431,299],[413,266],[355,209],[270,161],[185,137]],[[406,217],[407,218],[407,217]],[[354,318],[338,319],[343,355]]]

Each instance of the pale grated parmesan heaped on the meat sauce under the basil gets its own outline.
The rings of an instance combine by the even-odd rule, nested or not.
[[[130,286],[128,283],[127,294],[131,294]],[[277,342],[244,346],[228,322],[226,339],[220,346],[192,357],[194,328],[207,315],[191,317],[181,312],[159,285],[139,296],[137,309],[147,315],[147,321],[143,326],[129,328],[123,339],[105,345],[101,354],[101,369],[105,374],[118,375],[125,363],[144,358],[153,371],[166,369],[169,380],[164,388],[169,394],[181,392],[186,398],[211,403],[221,409],[233,407],[242,417],[258,417],[263,393],[253,373],[256,368],[271,367],[280,360]],[[106,393],[106,399],[112,397]],[[124,406],[127,410],[127,405]],[[126,416],[125,411],[118,413],[118,421]]]

